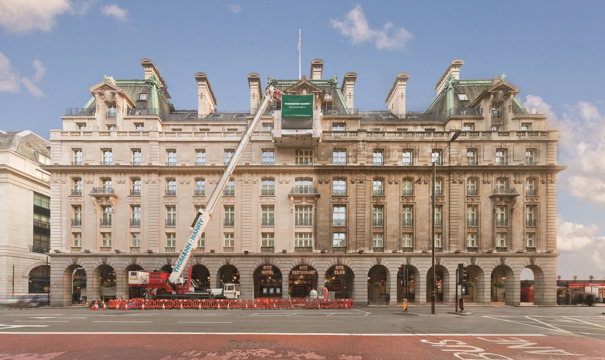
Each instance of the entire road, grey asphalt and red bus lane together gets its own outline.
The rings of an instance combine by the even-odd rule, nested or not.
[[[0,359],[605,359],[603,308],[0,310]]]

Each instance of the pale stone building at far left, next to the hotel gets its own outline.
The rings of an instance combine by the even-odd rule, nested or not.
[[[0,130],[0,294],[47,293],[50,267],[48,140]]]

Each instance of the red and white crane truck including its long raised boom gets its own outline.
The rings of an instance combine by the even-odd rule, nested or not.
[[[131,272],[128,276],[128,285],[144,287],[149,298],[199,299],[209,298],[214,294],[216,294],[216,298],[240,298],[240,286],[238,284],[224,284],[222,289],[211,289],[210,291],[197,287],[195,281],[191,279],[192,266],[189,266],[189,277],[187,279],[184,279],[181,275],[183,274],[183,270],[185,270],[189,257],[191,257],[191,254],[195,249],[195,244],[197,244],[201,234],[203,234],[206,223],[210,220],[212,212],[220,200],[221,194],[227,185],[227,181],[231,178],[235,166],[237,166],[237,163],[240,161],[244,148],[246,148],[246,145],[250,142],[254,129],[260,122],[264,111],[267,110],[269,103],[273,102],[273,100],[281,100],[281,95],[281,91],[276,88],[273,88],[272,86],[267,88],[261,105],[258,107],[252,122],[246,129],[246,133],[241,137],[237,148],[235,148],[233,157],[227,164],[220,180],[218,180],[216,188],[212,191],[212,195],[206,203],[206,208],[200,209],[196,214],[191,227],[189,227],[191,235],[183,247],[183,251],[178,255],[172,273],[168,275],[168,273],[159,271]]]

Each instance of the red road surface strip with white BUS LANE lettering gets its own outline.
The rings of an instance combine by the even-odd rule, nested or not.
[[[255,346],[264,349],[245,349]],[[597,339],[523,335],[0,334],[0,360],[584,360],[605,359],[604,347]]]

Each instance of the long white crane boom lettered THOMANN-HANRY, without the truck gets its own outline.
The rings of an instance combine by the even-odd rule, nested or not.
[[[229,163],[227,164],[223,175],[218,181],[216,188],[214,188],[214,191],[212,191],[212,195],[210,195],[208,203],[206,203],[206,208],[200,209],[200,211],[196,214],[195,220],[191,224],[191,228],[189,229],[191,231],[191,235],[189,235],[189,239],[185,244],[185,247],[183,247],[183,251],[181,251],[181,254],[178,256],[177,261],[175,261],[174,263],[174,269],[172,270],[172,273],[168,278],[169,283],[174,284],[177,281],[177,278],[179,278],[183,273],[185,265],[195,248],[194,244],[197,244],[197,241],[200,239],[201,234],[204,232],[204,229],[206,228],[206,223],[208,222],[208,218],[212,216],[212,212],[214,211],[214,208],[218,203],[218,199],[221,196],[221,192],[223,192],[225,186],[227,185],[227,181],[229,181],[229,178],[231,178],[231,175],[233,174],[235,166],[237,166],[237,163],[240,161],[241,155],[244,152],[244,148],[246,148],[246,145],[248,145],[248,143],[250,142],[250,139],[252,138],[252,133],[257,127],[258,122],[260,122],[260,119],[263,116],[264,111],[267,109],[267,106],[269,106],[269,103],[272,102],[274,99],[281,99],[281,92],[271,86],[269,87],[269,89],[267,89],[261,106],[259,106],[257,113],[252,119],[252,122],[246,129],[246,133],[241,137],[240,143],[235,149],[231,160],[229,160]]]

